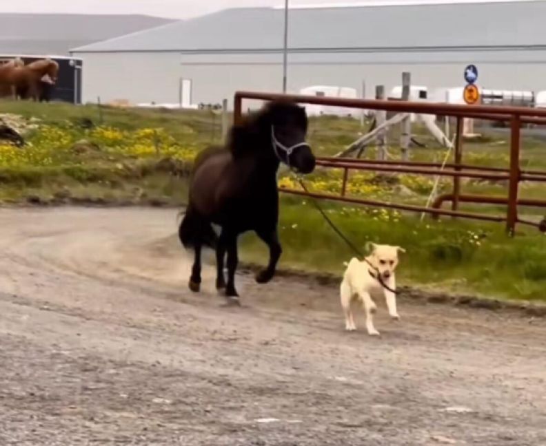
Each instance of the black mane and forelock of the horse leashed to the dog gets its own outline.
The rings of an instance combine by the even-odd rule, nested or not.
[[[273,100],[258,111],[243,116],[241,122],[233,125],[226,149],[234,158],[256,153],[259,148],[256,145],[262,142],[261,138],[270,138],[270,126],[273,125],[275,116],[283,114],[296,114],[307,125],[305,110],[299,105],[287,100]]]

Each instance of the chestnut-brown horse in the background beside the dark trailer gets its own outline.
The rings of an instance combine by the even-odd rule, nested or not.
[[[41,83],[54,85],[58,76],[59,64],[52,59],[42,59],[23,66],[15,59],[0,66],[0,94],[14,99],[39,100]]]

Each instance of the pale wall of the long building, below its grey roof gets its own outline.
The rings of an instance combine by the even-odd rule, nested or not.
[[[84,100],[126,98],[132,103],[152,100],[177,103],[179,78],[192,80],[193,103],[231,102],[237,89],[280,92],[281,54],[75,54],[84,59]],[[339,85],[374,95],[375,85],[387,92],[409,71],[414,85],[429,92],[464,85],[468,63],[478,66],[478,85],[486,89],[546,90],[546,51],[481,52],[323,52],[290,54],[288,89]]]

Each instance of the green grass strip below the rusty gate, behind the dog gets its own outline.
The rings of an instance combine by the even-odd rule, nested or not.
[[[366,242],[407,250],[398,266],[400,284],[504,299],[546,300],[546,235],[536,230],[520,230],[509,238],[498,224],[450,218],[421,222],[417,216],[393,218],[372,209],[323,206],[334,224],[362,251]],[[343,274],[343,262],[354,254],[308,200],[287,198],[281,209],[281,266]],[[243,243],[243,259],[265,262],[267,249],[254,235],[245,235]]]

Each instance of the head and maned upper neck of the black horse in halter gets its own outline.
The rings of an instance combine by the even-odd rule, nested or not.
[[[315,157],[305,142],[307,125],[303,107],[274,100],[233,127],[230,149],[234,156],[255,154],[272,163],[283,162],[300,173],[311,173]]]

